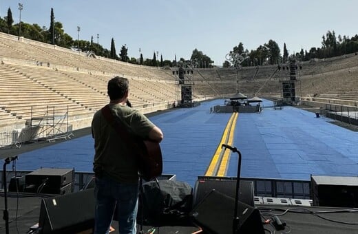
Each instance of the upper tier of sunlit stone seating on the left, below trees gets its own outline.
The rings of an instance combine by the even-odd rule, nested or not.
[[[0,51],[3,56],[35,61],[36,63],[56,64],[76,67],[78,70],[96,70],[109,74],[127,75],[142,78],[160,78],[172,81],[173,78],[158,67],[131,65],[112,59],[87,57],[85,53],[67,50],[54,45],[17,40],[15,36],[0,33]]]

